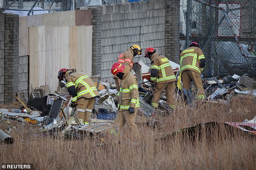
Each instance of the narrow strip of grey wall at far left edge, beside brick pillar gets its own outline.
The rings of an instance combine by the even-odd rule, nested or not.
[[[4,102],[4,14],[0,12],[0,103]]]

